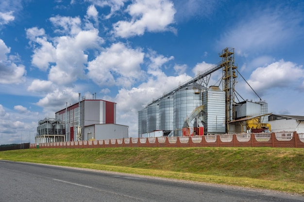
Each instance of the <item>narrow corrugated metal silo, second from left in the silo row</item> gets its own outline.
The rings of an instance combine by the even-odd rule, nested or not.
[[[159,124],[159,102],[153,103],[147,107],[147,132],[158,130]]]

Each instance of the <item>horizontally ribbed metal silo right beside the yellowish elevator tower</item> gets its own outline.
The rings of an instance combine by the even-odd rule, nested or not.
[[[205,134],[225,133],[225,92],[218,86],[210,86],[207,91],[203,92],[203,105]]]

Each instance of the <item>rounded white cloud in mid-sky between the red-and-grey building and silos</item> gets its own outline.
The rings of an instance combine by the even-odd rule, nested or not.
[[[141,76],[144,53],[122,43],[112,44],[88,63],[88,77],[100,86],[131,86]],[[115,76],[115,78],[114,78]]]

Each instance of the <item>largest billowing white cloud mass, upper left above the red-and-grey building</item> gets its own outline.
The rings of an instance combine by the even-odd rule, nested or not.
[[[63,20],[56,16],[56,22],[63,27],[66,18]],[[32,28],[27,30],[27,36],[34,43],[34,54],[32,55],[32,64],[40,70],[48,70],[48,78],[51,82],[58,85],[71,85],[77,78],[84,78],[85,65],[88,55],[85,50],[98,48],[103,43],[103,39],[98,36],[98,30],[78,30],[76,34],[64,35],[51,38],[48,41],[44,36],[43,29]],[[51,67],[50,65],[53,64]]]

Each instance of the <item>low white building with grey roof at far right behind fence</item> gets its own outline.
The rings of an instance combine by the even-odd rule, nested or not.
[[[272,114],[268,117],[272,132],[296,131],[304,133],[304,116]]]

